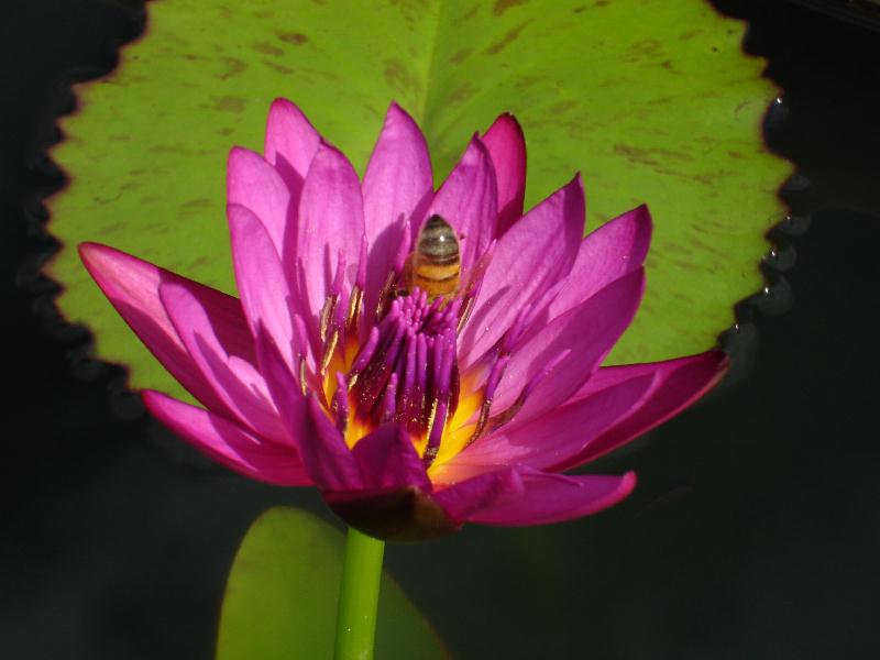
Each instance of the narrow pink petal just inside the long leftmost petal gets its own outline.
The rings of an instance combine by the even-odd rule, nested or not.
[[[257,436],[289,444],[263,377],[250,363],[230,359],[199,299],[174,283],[161,285],[160,297],[187,352],[222,399],[224,409],[231,410]]]

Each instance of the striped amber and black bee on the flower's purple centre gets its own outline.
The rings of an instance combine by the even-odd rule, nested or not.
[[[410,253],[404,282],[411,292],[419,287],[428,300],[450,300],[461,284],[461,254],[455,230],[440,216],[431,216],[419,231]]]

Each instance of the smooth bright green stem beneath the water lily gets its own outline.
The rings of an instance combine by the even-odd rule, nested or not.
[[[334,660],[372,660],[385,542],[349,528],[339,587]]]

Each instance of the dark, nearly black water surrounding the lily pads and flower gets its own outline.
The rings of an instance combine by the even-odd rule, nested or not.
[[[771,294],[739,306],[721,392],[603,461],[639,472],[624,505],[389,548],[455,658],[880,657],[880,36],[781,1],[718,6],[749,20],[747,50],[784,89],[768,138],[798,175]],[[53,320],[37,200],[62,182],[42,155],[72,102],[62,81],[111,67],[140,14],[99,0],[0,12],[0,653],[207,659],[250,521],[324,509],[201,461]]]

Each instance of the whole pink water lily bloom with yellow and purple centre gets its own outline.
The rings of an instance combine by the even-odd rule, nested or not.
[[[146,391],[146,407],[231,470],[316,486],[383,539],[556,522],[614,505],[636,481],[560,472],[690,405],[726,360],[602,366],[641,299],[648,209],[582,239],[580,177],[524,216],[525,179],[509,114],[435,190],[425,138],[397,105],[360,180],[276,100],[264,154],[229,156],[240,298],[112,248],[80,254],[204,406]],[[449,299],[402,286],[433,215],[459,235],[461,286]]]

